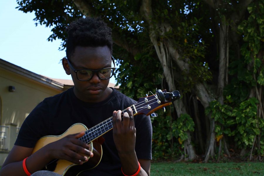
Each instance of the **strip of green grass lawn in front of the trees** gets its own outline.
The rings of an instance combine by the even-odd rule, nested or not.
[[[150,175],[264,175],[264,163],[153,162]]]

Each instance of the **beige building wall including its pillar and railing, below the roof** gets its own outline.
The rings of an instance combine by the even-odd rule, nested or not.
[[[0,126],[6,126],[2,128],[2,131],[6,132],[6,148],[8,149],[0,151],[0,166],[4,163],[9,150],[13,148],[17,127],[21,127],[28,114],[44,98],[59,94],[63,90],[61,87],[56,88],[55,85],[48,86],[51,85],[50,83],[45,84],[44,77],[38,75],[41,78],[39,80],[39,78],[31,77],[33,73],[18,69],[20,71],[10,71],[3,66],[0,67]],[[14,86],[15,91],[9,92],[9,86]]]

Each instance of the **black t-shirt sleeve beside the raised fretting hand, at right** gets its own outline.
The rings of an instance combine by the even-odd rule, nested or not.
[[[138,159],[151,160],[152,125],[150,116],[138,115],[136,119],[136,154]]]

